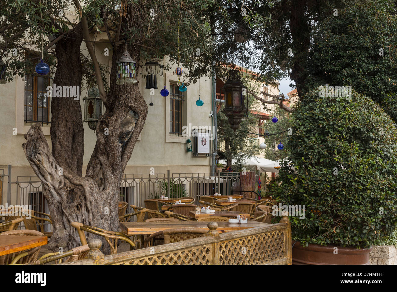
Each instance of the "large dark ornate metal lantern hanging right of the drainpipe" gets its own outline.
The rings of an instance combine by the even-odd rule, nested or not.
[[[237,70],[230,70],[229,77],[224,87],[221,89],[225,93],[225,107],[222,112],[229,119],[231,128],[236,131],[241,124],[247,107],[244,105],[243,89],[247,89],[241,82],[241,77]]]

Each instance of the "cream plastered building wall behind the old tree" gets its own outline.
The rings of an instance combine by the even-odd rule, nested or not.
[[[100,63],[111,66],[112,51],[110,50],[110,56],[104,56],[105,47],[107,45],[103,43],[96,45],[97,58]],[[176,65],[172,66],[172,68],[176,67]],[[167,170],[171,170],[171,173],[210,172],[210,157],[193,157],[192,152],[186,152],[186,139],[193,141],[191,137],[172,137],[169,133],[170,96],[162,97],[160,90],[164,88],[164,79],[166,79],[166,88],[170,90],[169,82],[170,80],[177,81],[177,76],[172,75],[172,72],[166,72],[165,75],[166,77],[158,76],[158,89],[155,90],[152,99],[150,89],[145,89],[145,79],[138,75],[139,86],[146,103],[149,104],[152,101],[154,106],[148,105],[149,111],[145,126],[135,145],[125,173],[149,173],[150,167],[154,167],[155,173],[167,173]],[[86,90],[81,91],[82,107],[83,97],[86,94]],[[188,86],[184,101],[187,110],[187,126],[191,123],[193,126],[208,126],[211,128],[212,119],[209,118],[208,114],[212,110],[212,85],[209,78],[200,79],[200,94],[204,105],[198,107],[195,104],[198,99],[198,83]],[[16,175],[34,175],[22,149],[22,143],[25,142],[23,135],[30,128],[23,123],[23,79],[15,77],[12,82],[0,85],[0,99],[2,100],[2,107],[0,108],[0,166],[12,164],[13,170],[15,168],[13,178]],[[17,135],[12,134],[13,128],[17,128]],[[43,131],[48,145],[51,147],[49,125],[48,127],[44,126]],[[84,123],[84,135],[83,172],[96,142],[96,135],[87,123]]]

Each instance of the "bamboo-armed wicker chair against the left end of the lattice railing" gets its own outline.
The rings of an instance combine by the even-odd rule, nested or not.
[[[55,263],[69,263],[73,261],[80,261],[82,259],[86,259],[89,251],[90,248],[88,244],[86,244],[84,246],[77,246],[76,248],[72,248],[63,253],[47,253],[40,257],[40,259],[38,259],[37,261],[32,261],[25,265],[44,265],[46,263],[51,263],[52,261],[55,261]]]

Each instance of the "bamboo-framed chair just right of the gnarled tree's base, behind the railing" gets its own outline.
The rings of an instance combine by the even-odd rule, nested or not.
[[[118,240],[123,240],[123,241],[129,243],[130,250],[135,249],[134,242],[127,235],[125,235],[121,232],[104,230],[101,228],[96,228],[93,226],[85,225],[85,224],[82,224],[79,222],[72,222],[71,226],[73,226],[74,228],[77,229],[77,232],[79,233],[80,241],[81,241],[82,245],[87,244],[87,238],[85,237],[85,233],[84,233],[84,231],[86,231],[86,232],[104,237],[106,242],[110,246],[110,254],[117,253]]]

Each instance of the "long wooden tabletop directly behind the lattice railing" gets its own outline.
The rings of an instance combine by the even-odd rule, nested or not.
[[[162,231],[170,228],[202,228],[208,230],[209,222],[198,222],[198,221],[180,221],[180,222],[120,222],[120,228],[123,233],[127,235],[135,235],[135,234],[153,234],[158,231]],[[219,233],[224,233],[232,230],[243,230],[254,227],[263,227],[270,224],[256,222],[256,221],[248,221],[245,224],[231,224],[227,221],[225,222],[217,222],[218,228],[217,231]]]

